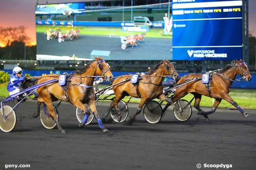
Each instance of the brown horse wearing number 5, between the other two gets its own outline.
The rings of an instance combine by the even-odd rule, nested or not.
[[[120,113],[120,110],[117,104],[125,96],[141,98],[137,112],[126,120],[125,122],[126,125],[132,124],[132,121],[134,120],[135,116],[141,112],[141,109],[144,106],[146,101],[158,98],[158,99],[161,99],[162,101],[167,101],[168,103],[174,106],[173,102],[163,94],[162,82],[163,82],[163,77],[165,77],[165,75],[171,76],[174,79],[178,78],[178,73],[176,72],[173,64],[171,64],[171,62],[169,62],[168,60],[163,60],[158,64],[158,66],[156,66],[156,68],[152,69],[147,75],[143,75],[141,77],[141,80],[138,80],[139,82],[137,83],[137,90],[136,90],[136,85],[132,84],[130,81],[126,81],[114,86],[113,91],[116,97],[115,97],[115,100],[110,104],[108,113],[104,115],[103,120],[107,119],[108,114],[112,108],[115,108],[115,110],[118,113]],[[125,80],[125,79],[131,79],[131,76],[123,75],[123,76],[117,77],[113,81],[113,84],[117,82],[121,82],[122,80]]]

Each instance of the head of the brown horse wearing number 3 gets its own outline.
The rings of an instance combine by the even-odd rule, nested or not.
[[[244,80],[250,81],[252,79],[250,71],[243,60],[235,60],[235,62],[233,62],[233,67],[236,68],[236,73],[241,75]]]

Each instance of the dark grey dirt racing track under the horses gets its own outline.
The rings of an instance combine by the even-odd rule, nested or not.
[[[100,115],[106,109],[98,106]],[[130,115],[135,112],[129,109]],[[35,102],[20,104],[16,128],[0,132],[0,169],[6,164],[30,164],[32,170],[195,170],[198,163],[232,164],[232,170],[256,166],[254,110],[247,118],[237,110],[217,110],[210,123],[195,111],[184,123],[171,111],[158,124],[148,124],[141,114],[133,126],[105,124],[110,132],[103,133],[95,121],[78,129],[74,106],[61,104],[65,135],[45,129],[31,117],[35,110]]]

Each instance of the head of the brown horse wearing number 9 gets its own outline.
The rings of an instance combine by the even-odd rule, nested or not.
[[[112,81],[114,76],[109,70],[110,67],[108,63],[105,60],[103,60],[102,57],[95,57],[95,59],[95,65],[97,66],[96,75],[103,76],[104,79],[106,79],[107,81]]]

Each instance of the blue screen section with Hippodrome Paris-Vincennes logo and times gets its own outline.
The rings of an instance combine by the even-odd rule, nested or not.
[[[242,58],[242,0],[173,0],[173,60]]]

